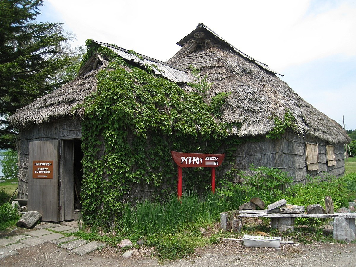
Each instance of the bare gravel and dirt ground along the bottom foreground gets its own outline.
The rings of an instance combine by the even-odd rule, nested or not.
[[[147,250],[150,251],[150,250]],[[2,266],[356,266],[356,244],[281,245],[281,248],[245,247],[241,242],[224,241],[200,248],[197,255],[177,261],[158,261],[134,250],[130,258],[106,247],[84,256],[48,242],[22,248],[19,255],[6,257]]]

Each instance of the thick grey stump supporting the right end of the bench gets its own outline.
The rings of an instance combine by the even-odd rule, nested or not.
[[[344,240],[346,242],[354,241],[356,237],[355,219],[334,219],[333,239]]]

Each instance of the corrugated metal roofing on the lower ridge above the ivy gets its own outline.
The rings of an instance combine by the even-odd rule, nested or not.
[[[152,68],[153,72],[157,75],[161,75],[168,80],[171,80],[175,83],[192,83],[188,76],[188,72],[183,69],[179,69],[177,67],[171,66],[167,63],[159,61],[154,58],[150,58],[141,54],[138,54],[139,57],[135,56],[134,54],[130,54],[129,50],[121,48],[121,47],[114,47],[107,43],[101,43],[97,41],[93,41],[98,45],[103,45],[111,49],[113,52],[118,54],[120,57],[125,58],[128,61],[132,61],[143,68],[147,68],[148,66]]]

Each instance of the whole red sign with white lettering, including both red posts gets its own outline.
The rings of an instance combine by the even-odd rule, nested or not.
[[[219,167],[225,154],[181,153],[171,151],[174,162],[178,165],[178,199],[182,197],[182,168],[211,168],[211,192],[215,193],[215,168]]]

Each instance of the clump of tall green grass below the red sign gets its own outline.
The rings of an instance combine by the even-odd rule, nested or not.
[[[189,192],[183,194],[178,201],[177,195],[171,194],[162,203],[145,200],[135,207],[126,203],[120,228],[127,232],[140,232],[142,235],[172,233],[187,223],[216,221],[221,210],[217,195],[199,197],[197,192]]]

